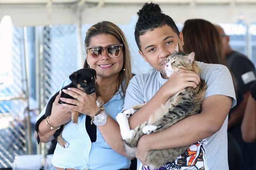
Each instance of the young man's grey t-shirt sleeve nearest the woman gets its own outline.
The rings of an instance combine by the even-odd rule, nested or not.
[[[132,106],[144,103],[144,94],[143,94],[142,87],[143,87],[143,82],[140,80],[140,77],[133,76],[133,78],[130,80],[129,85],[126,89],[123,110],[129,109]]]

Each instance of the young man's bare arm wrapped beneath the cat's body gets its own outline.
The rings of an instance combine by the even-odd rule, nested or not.
[[[142,136],[136,149],[137,158],[144,163],[150,150],[182,147],[212,136],[221,128],[231,104],[232,98],[224,95],[205,98],[200,114],[188,116],[163,131]]]

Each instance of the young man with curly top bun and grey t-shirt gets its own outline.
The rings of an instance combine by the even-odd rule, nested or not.
[[[236,100],[227,67],[197,62],[201,68],[199,76],[193,71],[180,70],[166,79],[165,59],[174,52],[177,43],[179,51],[183,50],[183,35],[157,4],[146,3],[138,15],[134,34],[139,53],[155,70],[134,76],[126,90],[123,110],[147,103],[129,118],[130,128],[147,121],[170,96],[189,86],[196,88],[200,78],[205,80],[207,90],[200,114],[189,116],[163,131],[142,136],[136,157],[145,164],[150,150],[191,145],[186,153],[161,169],[228,169],[227,115]],[[147,169],[140,161],[137,168]]]

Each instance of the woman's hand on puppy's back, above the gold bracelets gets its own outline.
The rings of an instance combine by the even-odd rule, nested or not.
[[[59,127],[65,123],[71,121],[71,112],[68,108],[64,107],[62,104],[59,104],[60,93],[56,96],[53,104],[52,104],[52,114],[48,118],[48,121],[52,124],[52,126]]]

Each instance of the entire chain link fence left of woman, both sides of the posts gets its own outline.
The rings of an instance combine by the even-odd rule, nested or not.
[[[11,26],[7,35],[6,29],[1,28],[3,27],[0,26],[0,168],[10,168],[16,155],[29,153],[27,123],[30,122],[27,122],[26,117],[28,112],[34,113],[34,119],[38,112],[28,110],[24,29]],[[80,65],[77,62],[79,53],[76,25],[44,26],[41,30],[43,41],[38,45],[43,47],[42,60],[39,60],[39,64],[29,64],[36,64],[36,69],[41,69],[36,75],[38,78],[31,81],[40,81],[35,82],[41,84],[36,95],[39,95],[41,106],[45,106],[61,81],[78,70]],[[10,37],[12,41],[6,42]],[[30,48],[35,46],[33,44]],[[32,126],[31,135],[34,133],[33,128]],[[31,139],[36,144],[33,136]],[[43,150],[47,153],[49,147],[46,144]]]

